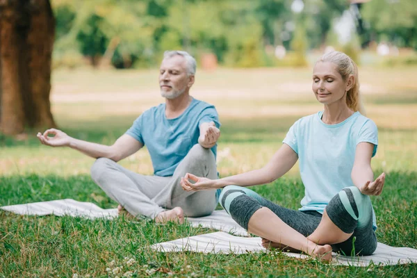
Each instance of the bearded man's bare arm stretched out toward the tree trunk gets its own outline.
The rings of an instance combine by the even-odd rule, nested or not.
[[[49,137],[53,135],[54,137]],[[115,162],[138,152],[143,144],[129,135],[122,135],[111,146],[87,142],[67,136],[66,133],[58,129],[48,129],[43,134],[37,135],[43,145],[51,147],[70,147],[92,158],[106,157]]]

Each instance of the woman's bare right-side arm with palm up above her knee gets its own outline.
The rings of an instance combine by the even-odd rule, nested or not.
[[[379,195],[384,187],[385,173],[374,181],[373,170],[370,167],[374,145],[369,142],[360,142],[357,145],[352,168],[352,181],[362,194]]]

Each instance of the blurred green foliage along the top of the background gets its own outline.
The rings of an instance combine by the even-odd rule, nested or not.
[[[90,60],[117,68],[154,66],[168,49],[189,51],[197,60],[212,53],[231,67],[302,66],[302,52],[325,46],[332,22],[349,8],[345,0],[304,1],[300,14],[291,10],[293,0],[51,2],[56,16],[54,65],[76,67]],[[411,0],[373,0],[362,10],[377,40],[417,47],[417,12]],[[362,43],[352,41],[345,49],[357,56],[357,44]],[[288,50],[286,59],[265,53],[265,47],[277,45]],[[74,51],[88,59],[71,58]]]

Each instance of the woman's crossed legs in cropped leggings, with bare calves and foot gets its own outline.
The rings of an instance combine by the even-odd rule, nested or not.
[[[352,254],[352,250],[354,254],[375,251],[372,206],[368,198],[356,187],[345,188],[320,215],[316,211],[283,208],[250,189],[227,186],[220,195],[220,204],[240,226],[261,236],[264,245],[285,250],[291,247],[290,250],[330,260],[332,249],[345,254]],[[353,236],[359,240],[354,241]]]

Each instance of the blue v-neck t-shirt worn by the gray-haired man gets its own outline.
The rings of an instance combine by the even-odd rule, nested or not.
[[[215,107],[193,98],[186,111],[174,119],[165,116],[165,104],[150,108],[133,122],[126,134],[147,146],[154,174],[168,177],[198,143],[199,126],[203,122],[214,122],[220,127]],[[216,156],[217,145],[211,150]]]

